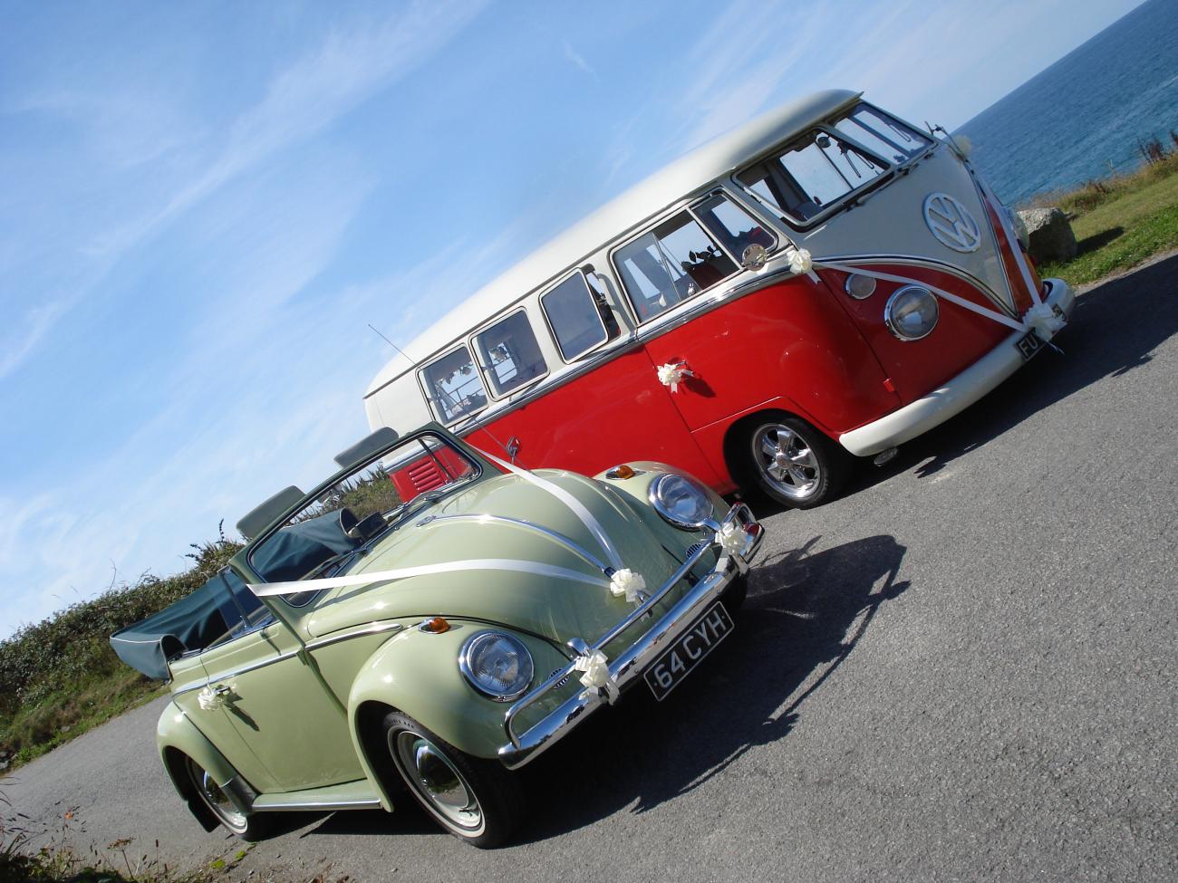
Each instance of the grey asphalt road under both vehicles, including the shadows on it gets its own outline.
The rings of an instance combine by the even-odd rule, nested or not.
[[[737,631],[529,768],[518,845],[290,816],[230,878],[1178,879],[1176,278],[1085,294],[1066,354],[833,505],[762,506]],[[159,708],[21,770],[16,809],[132,859],[232,858],[164,778]]]

